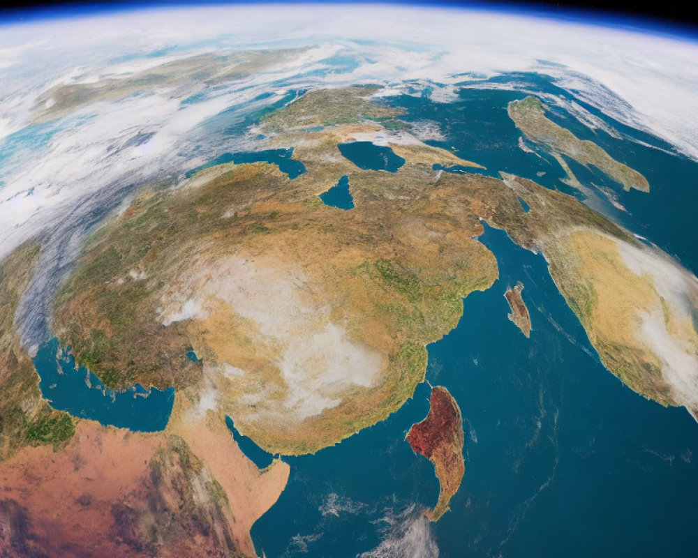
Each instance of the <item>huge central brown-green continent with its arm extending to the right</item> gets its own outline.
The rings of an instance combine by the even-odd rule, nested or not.
[[[533,182],[434,171],[452,154],[385,128],[400,114],[375,92],[314,91],[260,121],[260,147],[293,149],[303,163],[295,179],[276,165],[229,163],[176,188],[145,190],[87,242],[64,283],[54,306],[61,344],[110,386],[186,389],[270,453],[313,453],[412,395],[426,345],[457,324],[464,296],[498,276],[493,255],[473,238],[482,220],[542,252],[575,312],[584,302],[573,285],[587,268],[584,254],[562,247],[572,232],[656,253]],[[397,172],[373,171],[342,156],[339,144],[352,141],[410,147]],[[346,213],[317,197],[342,176],[355,202]],[[626,292],[626,308],[641,308],[640,293],[632,285]],[[600,323],[612,322],[604,317],[611,308],[597,308]],[[667,379],[670,362],[664,372],[656,362],[634,368],[639,353],[626,347],[648,341],[636,340],[632,322],[624,326],[632,344],[607,349],[598,325],[578,315],[609,370],[633,389],[664,403],[686,399],[667,397],[681,389]],[[192,347],[202,363],[185,358]],[[655,388],[632,375],[651,375]]]

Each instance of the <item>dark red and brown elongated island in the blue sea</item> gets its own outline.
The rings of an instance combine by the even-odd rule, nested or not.
[[[424,514],[436,521],[448,511],[448,504],[466,471],[461,409],[445,387],[436,386],[431,390],[429,414],[410,428],[407,441],[415,453],[429,458],[436,469],[440,483],[438,502],[433,510]]]

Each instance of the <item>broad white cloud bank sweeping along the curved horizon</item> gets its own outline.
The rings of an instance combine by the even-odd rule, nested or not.
[[[203,52],[279,47],[310,48],[223,86],[190,84],[191,93],[206,93],[200,103],[181,105],[188,91],[162,86],[80,107],[42,125],[40,133],[31,127],[36,99],[56,84],[133,75]],[[43,256],[43,273],[54,273],[57,260],[66,267],[59,234],[70,236],[70,227],[86,227],[96,214],[116,209],[139,183],[174,179],[225,151],[249,146],[253,136],[230,135],[225,123],[241,121],[251,100],[269,91],[379,83],[388,92],[410,93],[404,86],[410,80],[431,83],[433,98],[448,101],[454,85],[473,75],[539,71],[698,160],[696,59],[698,43],[689,39],[450,8],[197,6],[5,25],[0,257],[43,234],[53,243]],[[257,100],[255,107],[279,98]],[[600,126],[588,112],[567,108]],[[15,142],[14,133],[24,140]],[[146,139],[138,144],[131,141],[136,137]],[[35,299],[36,288],[30,288]]]

